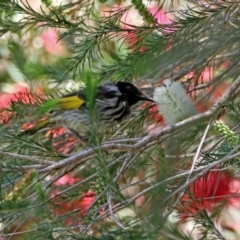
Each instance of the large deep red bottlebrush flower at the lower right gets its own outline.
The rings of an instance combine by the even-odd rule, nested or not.
[[[185,218],[203,210],[212,211],[219,204],[231,204],[235,194],[231,188],[233,181],[229,173],[220,171],[209,172],[196,180],[177,208],[181,216]]]

